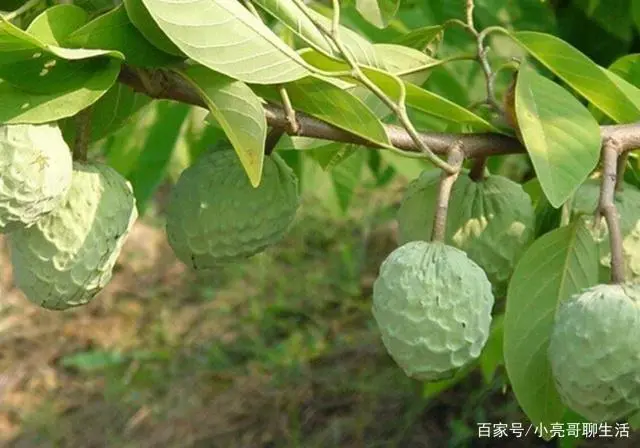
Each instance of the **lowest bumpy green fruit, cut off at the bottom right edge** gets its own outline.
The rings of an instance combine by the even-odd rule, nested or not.
[[[561,302],[548,354],[562,400],[589,420],[640,409],[640,286],[597,285]]]

